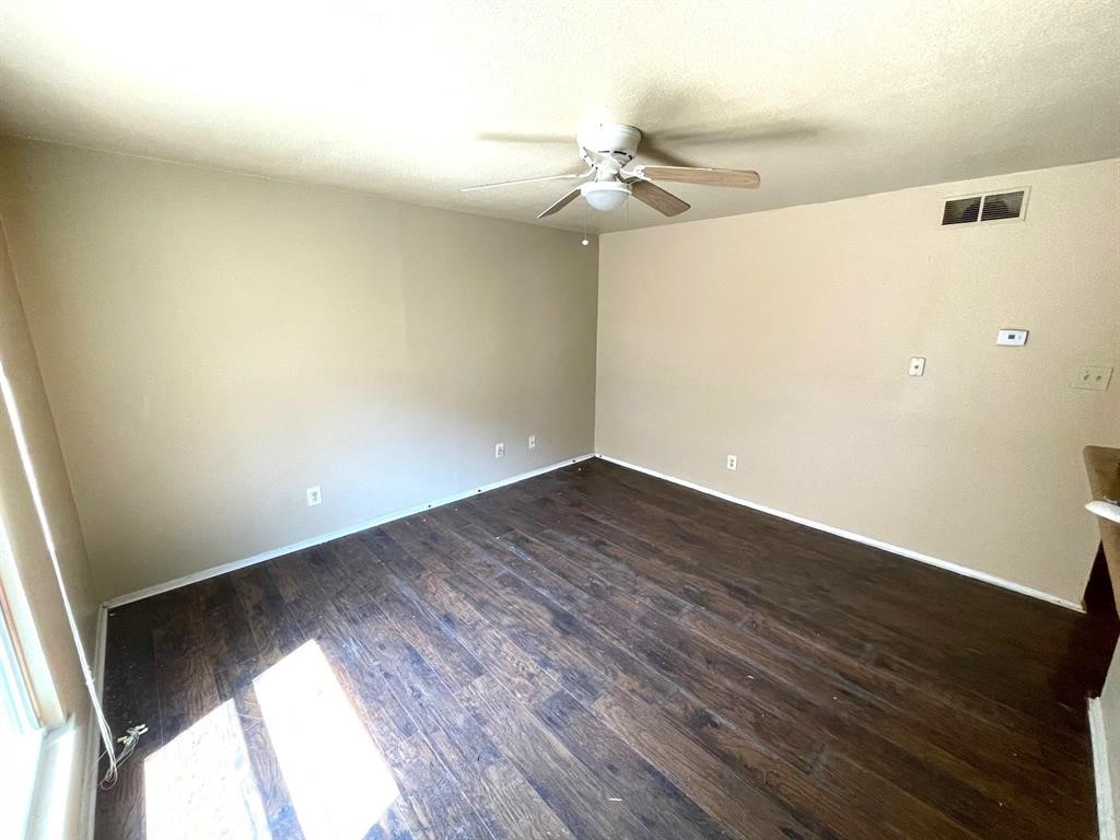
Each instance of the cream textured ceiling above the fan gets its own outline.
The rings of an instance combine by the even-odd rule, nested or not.
[[[588,118],[762,174],[679,221],[1120,156],[1120,4],[0,3],[4,133],[532,221],[563,183],[459,189],[575,169],[495,136]],[[548,224],[664,221],[584,207]]]

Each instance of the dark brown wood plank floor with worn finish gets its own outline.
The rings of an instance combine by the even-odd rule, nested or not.
[[[314,764],[348,790],[352,744],[306,703],[324,746],[295,767],[253,684],[314,643],[400,791],[370,838],[1090,840],[1085,696],[1116,636],[585,461],[112,610],[110,720],[150,732],[96,834],[161,808],[160,840],[346,840],[293,788]],[[240,828],[215,784],[258,802]]]

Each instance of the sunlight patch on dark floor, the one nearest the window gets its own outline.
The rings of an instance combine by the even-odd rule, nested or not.
[[[232,700],[143,765],[148,840],[271,840]]]

